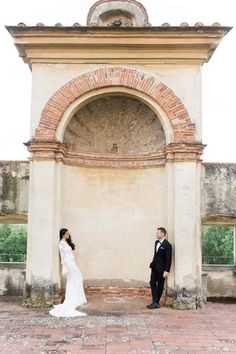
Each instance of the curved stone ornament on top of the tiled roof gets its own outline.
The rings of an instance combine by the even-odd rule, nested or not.
[[[88,26],[145,27],[149,26],[146,9],[134,0],[101,0],[90,9]]]

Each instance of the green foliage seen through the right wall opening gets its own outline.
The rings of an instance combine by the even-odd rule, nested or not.
[[[204,226],[202,229],[202,263],[234,264],[234,228]]]

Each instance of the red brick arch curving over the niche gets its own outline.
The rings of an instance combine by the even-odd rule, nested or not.
[[[126,87],[154,99],[164,110],[174,133],[174,142],[194,142],[195,125],[183,103],[174,92],[155,77],[131,68],[100,68],[69,81],[62,86],[45,105],[36,141],[54,141],[63,113],[76,99],[99,88]]]

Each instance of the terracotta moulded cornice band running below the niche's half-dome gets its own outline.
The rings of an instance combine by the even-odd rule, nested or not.
[[[166,162],[201,161],[202,144],[170,144],[156,153],[136,155],[81,154],[67,149],[59,142],[28,142],[31,161],[54,160],[65,165],[105,168],[151,168],[165,166]]]

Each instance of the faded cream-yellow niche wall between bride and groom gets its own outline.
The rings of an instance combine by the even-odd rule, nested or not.
[[[165,170],[65,166],[63,194],[61,226],[71,230],[84,279],[149,281],[155,230],[166,226]]]

